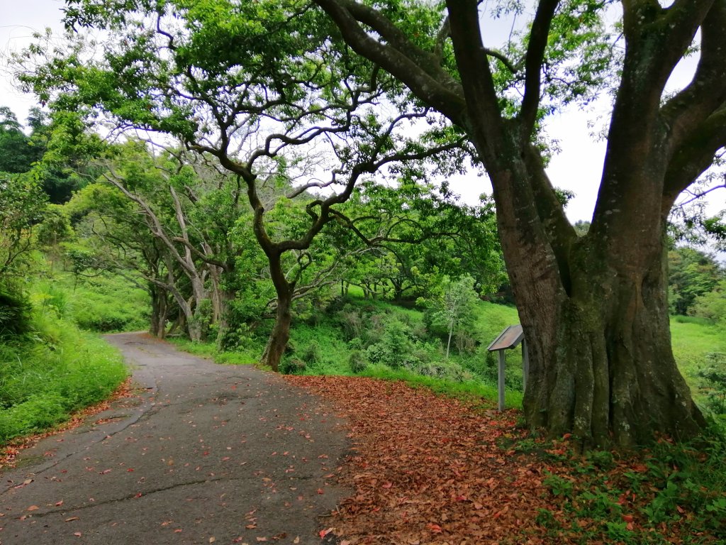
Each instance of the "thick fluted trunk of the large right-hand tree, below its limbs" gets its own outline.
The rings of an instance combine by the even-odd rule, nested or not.
[[[703,417],[674,361],[669,331],[666,216],[605,214],[608,235],[556,240],[544,225],[539,161],[513,163],[494,192],[502,249],[529,347],[524,408],[533,429],[572,433],[584,448],[694,435]],[[539,177],[539,182],[537,178]],[[529,178],[529,182],[518,180]],[[636,195],[632,197],[636,201]],[[630,211],[631,214],[634,211]]]

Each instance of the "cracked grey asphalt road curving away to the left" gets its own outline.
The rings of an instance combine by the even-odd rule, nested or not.
[[[332,408],[251,366],[107,339],[141,392],[23,451],[2,475],[1,545],[321,542],[346,493]]]

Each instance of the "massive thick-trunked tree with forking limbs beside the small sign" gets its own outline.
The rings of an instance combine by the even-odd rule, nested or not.
[[[621,1],[621,55],[604,33],[611,2],[518,4],[531,8],[525,39],[499,50],[484,47],[478,0],[314,2],[476,147],[529,344],[529,426],[584,445],[696,434],[703,418],[670,344],[664,232],[677,195],[726,144],[726,0]],[[693,81],[667,95],[694,41]],[[590,94],[610,59],[619,80],[600,192],[578,237],[534,141],[542,113]]]

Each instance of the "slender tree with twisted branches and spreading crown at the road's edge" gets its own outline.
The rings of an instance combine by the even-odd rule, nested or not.
[[[277,370],[311,243],[335,219],[335,206],[386,165],[455,153],[461,139],[430,108],[405,100],[397,108],[386,104],[400,84],[331,41],[333,26],[307,2],[68,4],[69,26],[107,32],[102,58],[85,38],[62,51],[31,47],[27,57],[17,57],[21,65],[36,55],[47,62],[21,78],[59,119],[76,113],[116,132],[171,134],[237,177],[277,294],[275,326],[262,356]],[[431,126],[412,132],[417,121]],[[446,168],[457,163],[448,161]],[[281,237],[263,198],[276,172],[290,187],[287,198],[306,201],[305,221]],[[198,257],[183,238],[173,242],[184,243],[189,259]]]

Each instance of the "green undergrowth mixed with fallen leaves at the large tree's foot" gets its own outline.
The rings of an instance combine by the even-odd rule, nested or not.
[[[533,440],[514,448],[560,468],[544,477],[552,507],[537,517],[553,543],[726,543],[726,435],[717,424],[697,443],[661,441],[637,456],[575,456],[567,443]]]

